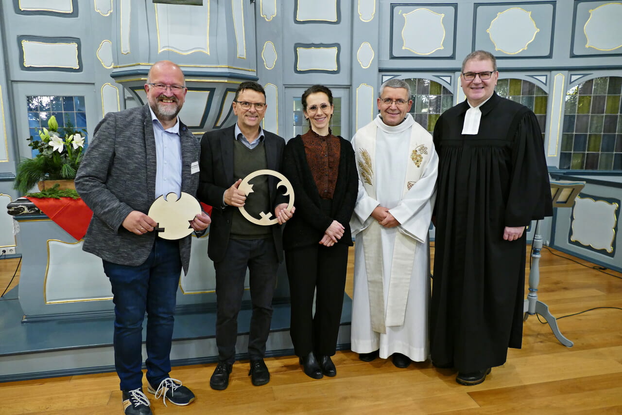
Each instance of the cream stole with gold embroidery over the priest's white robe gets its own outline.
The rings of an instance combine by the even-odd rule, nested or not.
[[[404,180],[404,196],[412,185],[415,184],[425,171],[430,159],[428,151],[429,141],[422,140],[416,123],[411,126],[411,140],[408,156],[411,159],[406,168]],[[356,163],[363,187],[369,197],[376,199],[376,178],[374,176],[376,162],[376,131],[378,126],[375,122],[361,128],[356,133],[355,152]],[[406,131],[404,131],[406,133]],[[424,141],[424,143],[421,143]],[[427,145],[427,146],[426,146]],[[396,178],[399,181],[399,178]],[[371,219],[371,217],[369,218]],[[388,305],[384,304],[384,278],[383,278],[383,255],[381,255],[381,226],[378,221],[371,219],[363,231],[363,250],[365,254],[365,267],[367,270],[367,284],[369,292],[369,311],[371,313],[371,328],[374,332],[386,333],[386,327],[404,325],[406,314],[406,302],[411,286],[412,268],[414,265],[415,248],[417,241],[397,232],[391,259],[391,277],[389,279]],[[385,313],[386,310],[386,313]]]

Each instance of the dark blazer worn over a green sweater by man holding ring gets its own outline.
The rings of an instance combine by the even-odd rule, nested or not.
[[[281,171],[281,161],[285,140],[276,134],[264,130],[267,168]],[[210,239],[207,253],[211,260],[218,262],[225,259],[225,252],[231,234],[231,217],[237,207],[223,207],[223,195],[241,177],[233,177],[233,141],[235,125],[221,130],[209,131],[201,138],[201,173],[198,186],[200,201],[213,206],[211,211]],[[276,188],[277,178],[268,176],[271,206],[276,206],[287,198],[282,198]],[[272,225],[272,238],[279,261],[283,260],[283,242],[281,226]]]

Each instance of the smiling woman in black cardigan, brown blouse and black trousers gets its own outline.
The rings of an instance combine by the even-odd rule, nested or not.
[[[294,188],[296,214],[285,226],[283,244],[294,351],[304,373],[320,379],[337,374],[330,356],[337,346],[358,174],[350,141],[328,128],[333,114],[330,89],[308,88],[302,107],[310,129],[289,140],[284,152],[283,171]]]

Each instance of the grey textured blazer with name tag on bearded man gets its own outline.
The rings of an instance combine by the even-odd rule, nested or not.
[[[199,143],[180,122],[182,192],[195,195]],[[140,265],[149,256],[156,232],[136,235],[121,224],[131,211],[147,213],[156,199],[156,141],[149,105],[108,113],[95,127],[93,140],[76,174],[76,190],[93,211],[83,249],[108,262]],[[179,240],[183,270],[190,262],[190,236]]]

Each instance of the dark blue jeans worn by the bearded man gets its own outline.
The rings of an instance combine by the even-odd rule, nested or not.
[[[114,367],[121,390],[142,388],[142,322],[147,312],[147,381],[157,386],[170,372],[175,295],[182,262],[179,241],[156,237],[137,267],[103,261],[114,302]]]

